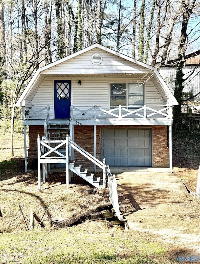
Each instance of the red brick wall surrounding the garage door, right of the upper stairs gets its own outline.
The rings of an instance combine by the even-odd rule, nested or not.
[[[101,159],[101,128],[111,126],[96,127],[96,156]],[[112,126],[120,128],[122,126]],[[144,128],[144,126],[123,126],[126,128]],[[169,149],[167,148],[167,126],[145,126],[153,128],[153,167],[169,167]],[[74,141],[86,151],[94,154],[94,128],[93,126],[74,126]],[[83,166],[93,167],[92,162],[85,161],[85,158],[75,151],[75,160]]]

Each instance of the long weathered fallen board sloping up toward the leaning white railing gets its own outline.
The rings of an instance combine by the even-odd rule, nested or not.
[[[110,206],[111,204],[112,204],[112,202],[108,202],[106,204],[102,204],[102,205],[95,206],[92,209],[90,209],[88,211],[85,211],[83,213],[80,213],[80,214],[78,214],[75,217],[70,217],[68,219],[62,220],[62,221],[56,223],[55,226],[57,226],[57,227],[69,226],[69,225],[77,222],[80,218],[82,218],[82,217],[85,217],[86,218],[86,216],[91,215],[93,213],[96,213],[99,210],[101,210],[101,209],[103,209],[103,208],[105,208],[107,206]]]

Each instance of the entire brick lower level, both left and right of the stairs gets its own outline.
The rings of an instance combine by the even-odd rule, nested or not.
[[[96,127],[96,156],[101,159],[101,128],[122,128],[122,126]],[[169,167],[169,149],[167,148],[167,126],[123,126],[125,128],[152,128],[153,131],[153,167]],[[28,160],[37,158],[37,135],[44,136],[44,126],[29,126]],[[83,149],[94,155],[94,128],[93,126],[74,126],[74,141]],[[75,151],[75,160],[86,167],[94,165],[83,155]]]

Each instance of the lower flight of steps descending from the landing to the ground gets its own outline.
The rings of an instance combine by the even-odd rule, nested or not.
[[[100,189],[103,188],[103,180],[100,177],[95,177],[93,172],[88,172],[88,169],[82,167],[82,165],[75,164],[76,161],[69,161],[69,170],[92,184],[94,187]]]

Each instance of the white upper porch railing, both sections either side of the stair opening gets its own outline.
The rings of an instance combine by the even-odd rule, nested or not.
[[[34,110],[37,108],[37,110]],[[71,119],[164,119],[172,120],[172,106],[154,105],[154,106],[73,106],[71,105]],[[23,120],[49,119],[49,106],[38,109],[23,107]]]

